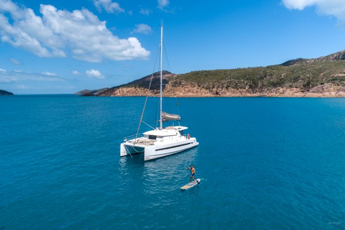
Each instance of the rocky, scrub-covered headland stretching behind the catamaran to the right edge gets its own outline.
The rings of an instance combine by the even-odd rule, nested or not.
[[[159,94],[160,73],[150,90]],[[77,92],[83,96],[144,96],[151,75],[100,90]],[[345,50],[315,59],[242,69],[200,70],[184,74],[163,71],[164,96],[177,97],[345,97]]]

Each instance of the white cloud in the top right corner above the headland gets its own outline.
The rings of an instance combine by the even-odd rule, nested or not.
[[[288,9],[303,10],[315,6],[319,14],[337,18],[340,25],[345,26],[345,0],[282,0]]]

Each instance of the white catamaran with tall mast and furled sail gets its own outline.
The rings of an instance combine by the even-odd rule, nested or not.
[[[144,161],[149,161],[172,154],[182,152],[184,150],[193,148],[199,144],[196,138],[190,137],[189,134],[184,134],[187,127],[180,126],[180,115],[168,114],[162,111],[162,54],[163,54],[163,25],[161,25],[161,89],[160,89],[160,126],[157,128],[152,128],[142,135],[138,135],[141,122],[143,122],[142,117],[145,111],[145,106],[147,102],[148,93],[150,91],[150,86],[148,88],[148,93],[146,95],[145,105],[141,114],[137,134],[130,137],[124,138],[124,142],[120,146],[120,156],[132,156],[133,154],[144,154]],[[178,121],[178,126],[167,126],[163,127],[164,121]],[[145,122],[144,122],[145,123]],[[158,126],[158,125],[157,125]]]

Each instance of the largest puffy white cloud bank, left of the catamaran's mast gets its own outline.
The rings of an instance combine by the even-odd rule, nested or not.
[[[40,13],[42,17],[11,0],[0,0],[0,40],[39,57],[71,55],[88,62],[147,59],[150,55],[137,38],[118,38],[87,9],[70,12],[41,4]]]

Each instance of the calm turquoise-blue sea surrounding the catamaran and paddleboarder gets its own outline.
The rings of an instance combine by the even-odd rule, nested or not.
[[[143,102],[1,96],[0,229],[345,228],[345,99],[180,98],[200,145],[120,158]]]

